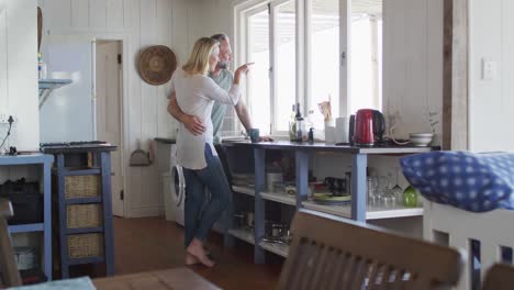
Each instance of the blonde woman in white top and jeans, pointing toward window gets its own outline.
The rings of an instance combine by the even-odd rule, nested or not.
[[[202,37],[194,44],[186,65],[177,69],[171,78],[171,93],[176,93],[180,109],[199,118],[205,124],[202,135],[193,135],[179,123],[177,136],[177,161],[183,167],[186,178],[185,244],[186,264],[201,263],[214,266],[203,248],[203,243],[212,225],[221,216],[230,202],[231,189],[225,172],[213,145],[211,111],[214,100],[236,104],[239,100],[239,80],[248,71],[248,65],[241,66],[234,74],[234,82],[228,91],[220,88],[209,71],[219,62],[219,42]],[[202,211],[205,187],[211,200]]]

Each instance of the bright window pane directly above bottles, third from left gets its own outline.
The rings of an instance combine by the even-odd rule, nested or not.
[[[312,0],[311,108],[331,101],[332,115],[339,115],[339,0]],[[315,122],[323,130],[323,122]]]

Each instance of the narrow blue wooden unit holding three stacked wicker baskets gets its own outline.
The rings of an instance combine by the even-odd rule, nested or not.
[[[114,275],[112,231],[111,152],[105,143],[45,145],[55,155],[54,205],[58,221],[60,275],[69,277],[69,266],[105,263]]]

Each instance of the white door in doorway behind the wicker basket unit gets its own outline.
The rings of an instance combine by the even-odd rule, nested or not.
[[[122,44],[119,41],[97,41],[96,105],[97,140],[118,146],[111,153],[112,211],[123,216],[122,170]]]

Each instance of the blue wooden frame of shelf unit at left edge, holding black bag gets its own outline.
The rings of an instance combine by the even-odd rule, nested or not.
[[[19,224],[8,226],[9,233],[43,233],[43,272],[52,280],[52,179],[51,167],[54,156],[41,153],[24,154],[18,156],[0,155],[0,166],[42,166],[43,182],[43,223]]]

